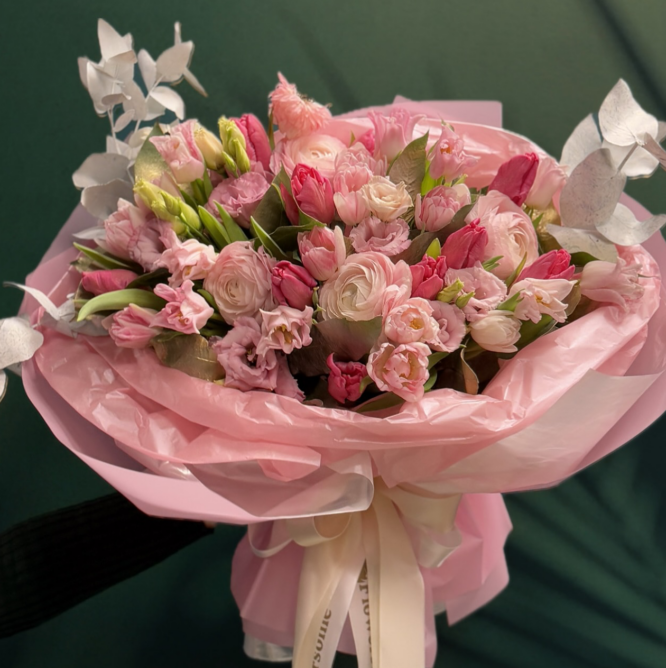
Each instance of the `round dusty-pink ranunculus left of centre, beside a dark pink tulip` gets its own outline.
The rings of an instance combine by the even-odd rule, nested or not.
[[[215,299],[224,320],[233,325],[242,317],[257,317],[275,306],[271,271],[275,260],[263,248],[255,251],[251,241],[225,246],[204,279],[204,289]]]

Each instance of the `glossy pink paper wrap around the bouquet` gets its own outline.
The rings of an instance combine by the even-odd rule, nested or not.
[[[467,183],[485,186],[507,158],[540,149],[499,124],[499,107],[400,100],[424,114],[416,133],[455,121],[466,150],[480,158]],[[389,107],[390,108],[390,107]],[[384,108],[388,109],[388,108]],[[345,141],[370,122],[354,112],[327,132]],[[626,199],[639,218],[647,212]],[[77,285],[68,265],[71,234],[94,221],[77,209],[30,286],[57,304]],[[666,408],[666,303],[659,234],[632,249],[645,295],[630,312],[602,306],[519,352],[477,396],[443,389],[376,417],[243,393],[162,366],[151,350],[118,348],[107,337],[69,338],[44,330],[45,344],[24,365],[31,400],[54,434],[143,511],[229,523],[361,511],[380,476],[388,487],[462,493],[460,547],[424,569],[426,649],[434,660],[431,611],[454,622],[507,582],[503,544],[510,522],[499,493],[553,485],[622,445]],[[55,286],[55,287],[54,287]],[[27,298],[24,310],[39,313]],[[648,391],[649,390],[649,391]],[[234,560],[232,588],[246,633],[293,642],[303,549],[259,559],[247,539]],[[284,614],[275,614],[275,605]],[[348,630],[341,647],[352,651]]]

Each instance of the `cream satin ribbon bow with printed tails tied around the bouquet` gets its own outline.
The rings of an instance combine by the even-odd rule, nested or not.
[[[425,591],[420,567],[436,568],[460,545],[460,495],[423,496],[378,479],[367,510],[279,520],[267,545],[250,526],[254,553],[291,541],[305,549],[293,668],[331,668],[347,616],[359,668],[425,666]]]

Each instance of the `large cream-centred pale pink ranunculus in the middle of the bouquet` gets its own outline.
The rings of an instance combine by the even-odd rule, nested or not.
[[[319,305],[326,319],[372,320],[390,302],[397,306],[412,293],[409,265],[381,253],[350,255],[338,273],[321,287]]]

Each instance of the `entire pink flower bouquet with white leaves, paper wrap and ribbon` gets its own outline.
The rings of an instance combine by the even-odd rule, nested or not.
[[[107,150],[0,367],[140,509],[249,525],[248,654],[432,666],[434,614],[507,583],[500,494],[666,408],[666,216],[620,202],[666,166],[664,126],[620,81],[558,162],[442,103],[334,117],[279,75],[266,128],[211,132],[169,86],[203,92],[178,25],[156,60],[99,38]]]

